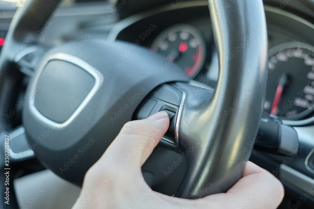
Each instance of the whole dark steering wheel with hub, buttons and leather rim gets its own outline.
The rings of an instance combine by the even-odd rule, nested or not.
[[[21,82],[15,66],[40,44],[32,41],[25,51],[21,46],[44,27],[58,3],[28,0],[14,16],[0,58],[2,131],[9,131],[4,115]],[[219,57],[214,92],[195,91],[178,66],[162,71],[165,58],[140,46],[131,51],[125,42],[86,34],[80,50],[74,48],[77,42],[68,42],[45,51],[36,62],[22,112],[37,158],[63,179],[81,185],[86,171],[126,122],[138,112],[146,117],[166,109],[174,117],[163,146],[180,153],[197,144],[187,156],[187,170],[175,196],[196,198],[209,181],[213,186],[205,195],[227,191],[241,178],[252,151],[247,142],[256,136],[262,114],[268,49],[262,0],[228,5],[229,0],[208,0]],[[251,39],[256,28],[260,32]],[[122,60],[126,50],[128,59]],[[151,100],[157,104],[148,110]]]

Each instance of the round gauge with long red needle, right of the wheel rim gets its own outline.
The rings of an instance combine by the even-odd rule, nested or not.
[[[264,110],[284,120],[300,120],[313,112],[313,46],[289,42],[269,50]]]

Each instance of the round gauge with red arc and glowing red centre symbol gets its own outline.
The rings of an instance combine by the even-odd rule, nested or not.
[[[205,40],[198,29],[187,24],[165,29],[151,49],[165,56],[168,65],[176,63],[190,78],[198,74],[205,61]]]

